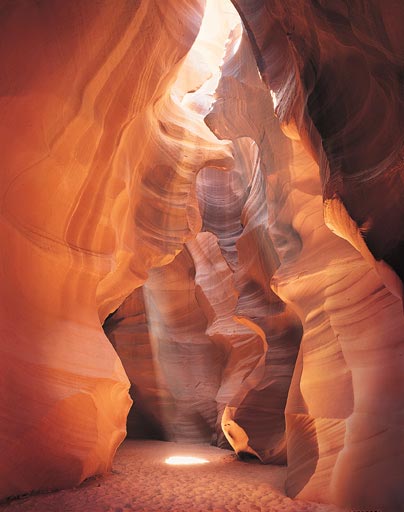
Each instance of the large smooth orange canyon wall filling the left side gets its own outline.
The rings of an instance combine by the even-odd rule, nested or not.
[[[231,162],[172,93],[203,8],[2,9],[0,497],[105,472],[125,436],[100,319],[199,230],[196,172]]]

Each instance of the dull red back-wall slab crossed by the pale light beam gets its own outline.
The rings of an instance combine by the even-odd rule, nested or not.
[[[146,305],[160,387],[173,401],[165,415],[171,436],[182,442],[214,442],[223,354],[205,332],[196,286],[194,261],[184,250],[170,265],[150,272]]]

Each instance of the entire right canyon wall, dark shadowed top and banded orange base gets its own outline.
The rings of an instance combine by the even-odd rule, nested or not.
[[[246,78],[246,57],[229,62],[208,124],[260,146],[280,259],[272,288],[304,328],[287,489],[402,510],[402,7],[234,3],[291,138],[258,76],[254,88]]]

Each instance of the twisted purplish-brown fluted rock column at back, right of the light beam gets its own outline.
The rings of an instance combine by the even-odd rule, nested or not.
[[[301,327],[270,288],[278,258],[256,145],[235,140],[234,154],[231,173],[199,174],[203,229],[216,236],[200,234],[187,247],[197,262],[207,333],[226,354],[216,398],[226,438],[238,453],[285,463],[284,408]]]

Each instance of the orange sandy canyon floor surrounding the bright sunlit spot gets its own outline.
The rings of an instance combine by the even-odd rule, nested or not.
[[[208,462],[165,462],[183,455]],[[125,441],[111,474],[74,489],[14,500],[0,512],[341,512],[287,498],[285,476],[284,467],[243,462],[212,446]]]

